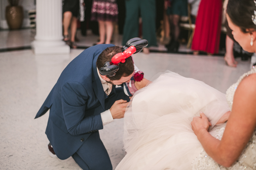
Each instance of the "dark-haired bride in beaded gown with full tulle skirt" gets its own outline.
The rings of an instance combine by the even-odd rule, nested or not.
[[[227,13],[236,41],[255,52],[254,1],[229,0]],[[173,72],[157,75],[128,105],[126,155],[116,170],[256,169],[254,73],[241,76],[226,96]]]

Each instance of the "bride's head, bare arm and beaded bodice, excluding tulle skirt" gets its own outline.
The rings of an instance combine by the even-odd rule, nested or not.
[[[227,20],[234,39],[245,51],[255,53],[256,1],[229,0]],[[221,140],[209,135],[209,122],[203,113],[191,122],[192,129],[204,147],[192,164],[194,169],[256,169],[255,73],[256,68],[253,68],[227,90],[231,113],[226,127],[221,129]]]

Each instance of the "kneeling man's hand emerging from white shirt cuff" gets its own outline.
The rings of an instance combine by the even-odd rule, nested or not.
[[[127,105],[128,102],[126,100],[116,100],[115,103],[109,109],[113,119],[123,118]]]

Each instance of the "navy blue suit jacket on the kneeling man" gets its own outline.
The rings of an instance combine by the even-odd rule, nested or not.
[[[100,82],[96,61],[111,46],[114,45],[87,48],[71,61],[36,114],[38,118],[50,108],[45,133],[60,159],[73,155],[92,131],[103,129],[100,113],[105,111],[108,96]],[[115,93],[114,86],[111,93]]]

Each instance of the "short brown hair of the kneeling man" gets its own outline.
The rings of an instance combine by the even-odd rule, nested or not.
[[[99,55],[96,65],[97,68],[100,70],[101,67],[104,66],[104,64],[108,61],[111,61],[112,57],[116,55],[117,53],[121,53],[122,48],[119,46],[112,46],[106,48],[102,53]],[[132,57],[128,57],[125,59],[124,63],[119,64],[119,70],[116,71],[116,75],[113,77],[110,77],[106,75],[111,81],[113,80],[120,80],[122,77],[128,77],[134,72],[134,66]]]

